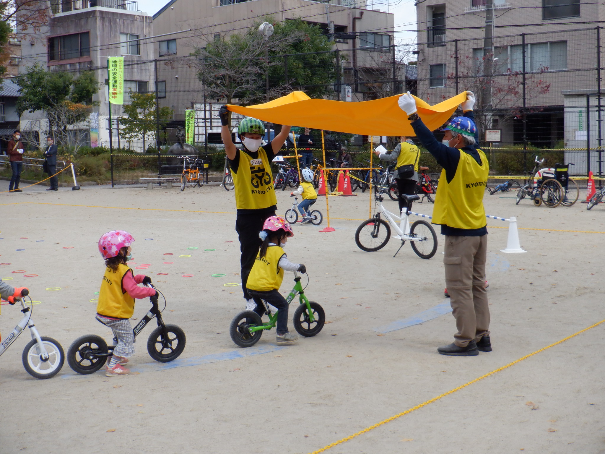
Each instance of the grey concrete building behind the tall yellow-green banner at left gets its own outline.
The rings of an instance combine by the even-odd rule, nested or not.
[[[19,72],[40,63],[50,71],[93,70],[101,90],[93,97],[99,105],[93,108],[90,125],[80,125],[80,133],[90,134],[98,130],[96,145],[109,145],[107,57],[123,56],[125,61],[125,90],[154,91],[153,73],[139,67],[137,62],[153,58],[153,45],[143,38],[152,36],[152,19],[138,10],[135,1],[128,0],[61,0],[51,1],[51,17],[38,38],[24,42],[21,50]],[[139,41],[139,39],[141,41]],[[128,96],[125,95],[125,102]],[[112,115],[122,114],[120,106],[113,106]],[[21,116],[21,130],[25,133],[42,133],[47,121],[40,111]],[[118,131],[114,121],[114,144],[118,143]],[[89,139],[90,142],[90,139]]]

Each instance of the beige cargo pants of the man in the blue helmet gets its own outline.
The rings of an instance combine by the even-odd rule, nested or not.
[[[465,347],[489,334],[489,307],[485,289],[488,235],[445,235],[445,285],[458,332],[454,344]]]

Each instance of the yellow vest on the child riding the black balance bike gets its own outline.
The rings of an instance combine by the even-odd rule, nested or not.
[[[122,290],[122,279],[128,272],[132,274],[132,269],[123,263],[117,266],[115,272],[111,268],[105,270],[101,289],[99,290],[97,314],[114,318],[132,317],[132,314],[134,314],[134,298]]]

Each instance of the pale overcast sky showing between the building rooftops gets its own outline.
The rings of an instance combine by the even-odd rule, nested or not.
[[[379,9],[395,15],[395,30],[398,31],[396,33],[396,42],[410,42],[416,39],[416,33],[399,32],[399,30],[411,30],[415,28],[416,8],[414,7],[414,0],[367,0],[367,2],[368,9]],[[166,3],[168,3],[168,0],[139,0],[139,9],[149,15],[154,15]]]

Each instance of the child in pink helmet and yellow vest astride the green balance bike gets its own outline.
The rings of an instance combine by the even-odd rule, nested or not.
[[[307,272],[307,269],[302,263],[292,263],[286,257],[283,248],[294,234],[290,224],[283,217],[269,217],[258,236],[263,243],[252,265],[246,286],[253,298],[265,300],[278,309],[276,341],[278,345],[291,344],[298,340],[298,334],[288,332],[288,303],[279,290],[284,280],[284,269],[302,273]],[[262,317],[264,308],[259,306],[261,305],[257,306],[255,312]]]

